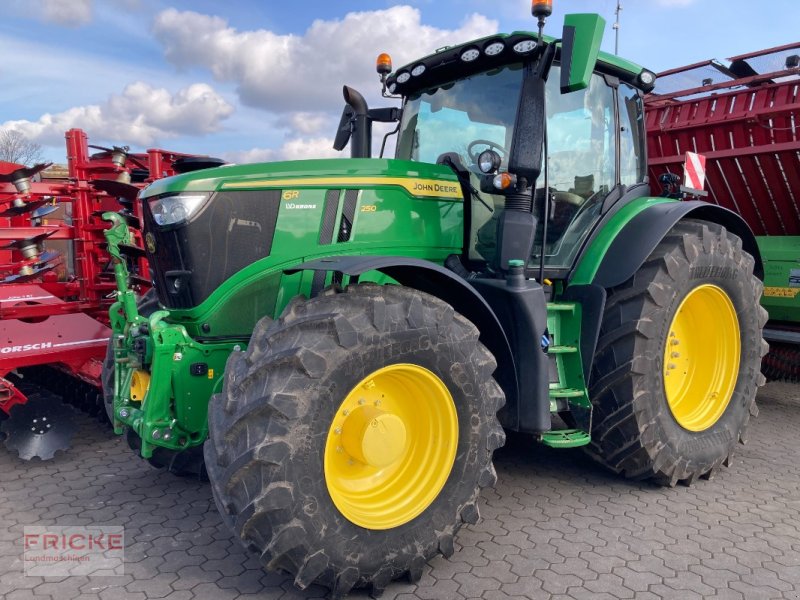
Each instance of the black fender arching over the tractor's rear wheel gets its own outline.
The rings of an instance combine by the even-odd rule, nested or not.
[[[744,250],[755,259],[756,277],[764,279],[764,265],[750,227],[735,212],[698,200],[654,204],[628,221],[603,257],[592,280],[606,289],[630,279],[681,219],[711,221],[742,239]]]

